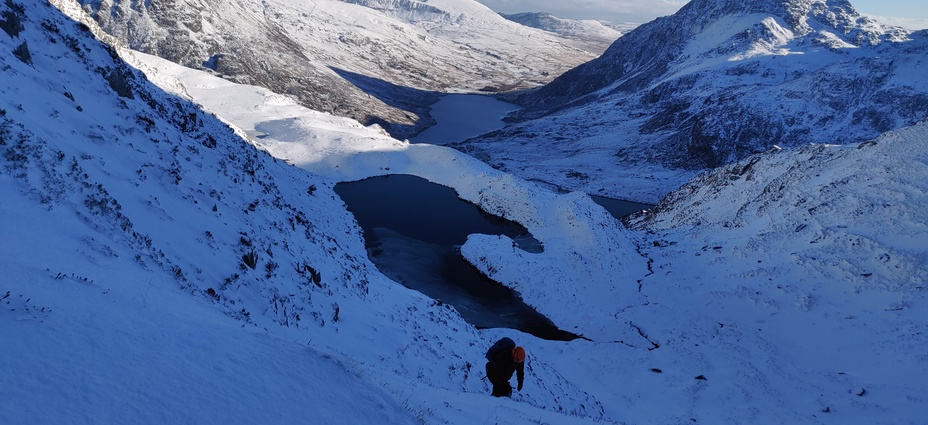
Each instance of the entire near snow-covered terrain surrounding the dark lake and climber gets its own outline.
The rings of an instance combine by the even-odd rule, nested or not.
[[[583,193],[109,47],[82,13],[0,2],[0,423],[928,415],[926,124],[752,157],[630,230]],[[332,187],[389,173],[528,228],[544,252],[461,251],[589,339],[478,331],[379,273]],[[529,353],[513,399],[483,379],[504,335]]]

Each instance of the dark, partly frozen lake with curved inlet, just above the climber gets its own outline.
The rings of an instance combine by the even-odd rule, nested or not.
[[[454,306],[477,328],[512,328],[571,340],[509,288],[483,276],[460,254],[472,233],[507,235],[528,252],[542,247],[518,223],[481,211],[454,190],[409,175],[339,183],[335,192],[364,229],[368,256],[404,286]]]

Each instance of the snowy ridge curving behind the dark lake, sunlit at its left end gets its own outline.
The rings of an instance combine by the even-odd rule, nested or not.
[[[623,257],[635,251],[633,237],[580,193],[557,195],[453,149],[400,142],[376,128],[305,110],[271,92],[225,83],[155,57],[137,56],[140,67],[153,81],[191,96],[288,163],[339,181],[383,174],[417,175],[454,188],[461,198],[490,213],[523,224],[544,244],[545,252],[516,250],[524,255],[515,259],[509,238],[472,235],[462,253],[475,263],[497,255],[512,261],[507,268],[512,267],[512,272],[522,277],[513,286],[529,304],[553,293],[571,297],[570,308],[542,311],[562,329],[594,339],[615,338],[611,330],[599,325],[608,321],[611,313],[584,305],[605,302],[609,309],[619,309],[637,301],[632,276],[643,276],[647,270],[643,258]],[[282,116],[289,118],[278,118]],[[569,284],[552,288],[552,279]]]

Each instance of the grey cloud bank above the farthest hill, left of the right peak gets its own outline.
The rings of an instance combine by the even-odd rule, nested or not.
[[[477,0],[502,13],[548,12],[562,18],[645,23],[672,15],[686,2],[673,0]]]

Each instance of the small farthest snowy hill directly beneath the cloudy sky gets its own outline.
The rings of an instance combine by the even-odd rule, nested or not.
[[[571,40],[575,46],[596,54],[605,52],[615,40],[622,36],[621,31],[592,19],[563,19],[543,12],[502,14],[502,16],[527,27],[560,34]]]

